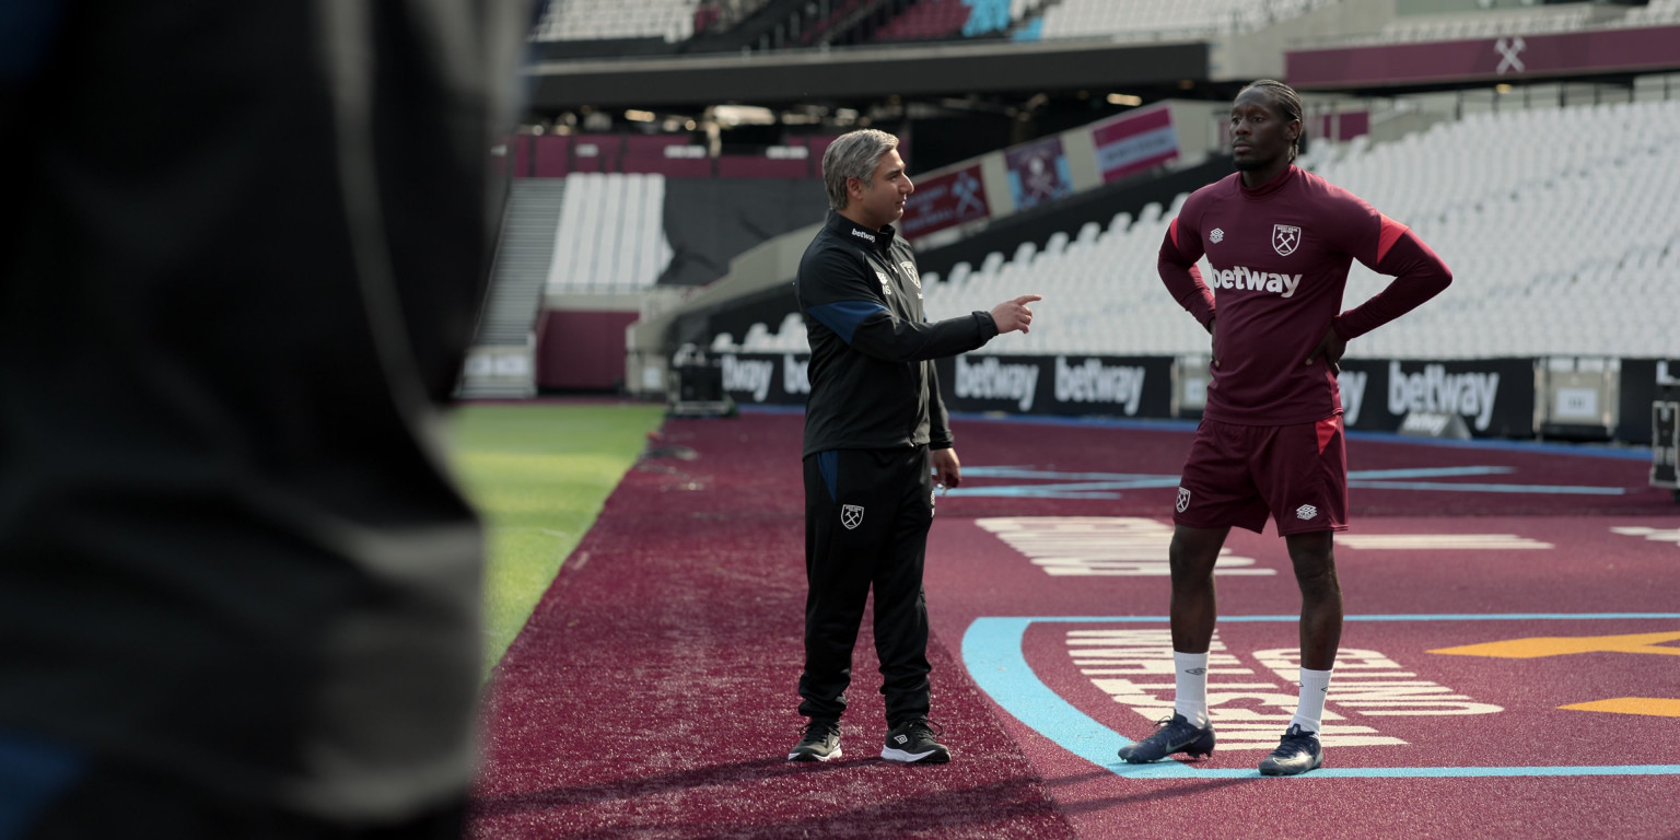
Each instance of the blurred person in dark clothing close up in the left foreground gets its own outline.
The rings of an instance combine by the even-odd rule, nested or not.
[[[524,3],[0,12],[0,838],[459,837]]]

